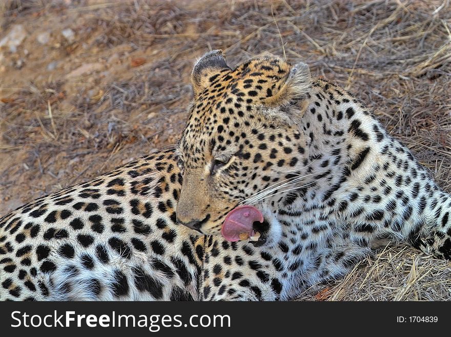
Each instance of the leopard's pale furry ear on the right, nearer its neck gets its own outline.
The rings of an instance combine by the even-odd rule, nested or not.
[[[288,74],[273,84],[272,96],[264,98],[262,103],[269,107],[276,107],[292,101],[302,101],[307,96],[311,84],[309,66],[303,62],[296,63]]]

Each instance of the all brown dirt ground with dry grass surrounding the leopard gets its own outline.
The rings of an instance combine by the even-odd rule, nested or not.
[[[0,2],[0,214],[177,143],[204,52],[302,60],[451,192],[448,1]],[[450,300],[451,263],[382,250],[301,300]]]

